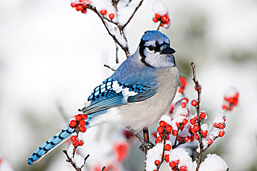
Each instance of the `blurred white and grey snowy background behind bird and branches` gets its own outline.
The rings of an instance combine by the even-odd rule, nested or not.
[[[153,2],[145,0],[127,26],[131,53],[144,31],[158,27],[152,21]],[[226,136],[205,155],[217,153],[231,171],[256,171],[257,1],[164,2],[171,27],[161,31],[177,51],[180,74],[189,80],[188,96],[196,98],[190,82],[192,61],[203,85],[202,109],[210,121],[221,110],[224,91],[231,85],[239,90],[239,105],[228,114]],[[122,51],[119,55],[125,60]],[[91,90],[113,73],[103,64],[115,65],[115,43],[93,12],[76,12],[69,0],[1,0],[0,158],[15,171],[72,170],[62,153],[69,143],[33,166],[27,167],[26,159],[67,125],[63,115],[81,108]],[[111,124],[89,129],[83,146],[85,155],[91,155],[87,162],[107,166],[113,157],[108,143],[122,141],[117,138],[121,134]],[[140,144],[131,144],[121,170],[142,171]],[[104,156],[107,153],[111,157]]]

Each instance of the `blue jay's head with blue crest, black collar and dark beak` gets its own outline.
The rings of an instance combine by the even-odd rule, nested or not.
[[[175,66],[172,54],[176,51],[169,44],[169,38],[160,31],[146,31],[139,44],[141,62],[154,68]]]

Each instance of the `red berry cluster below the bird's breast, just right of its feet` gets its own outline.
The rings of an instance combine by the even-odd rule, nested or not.
[[[157,132],[159,133],[159,136],[157,137],[157,139],[155,140],[155,143],[156,144],[158,144],[158,143],[162,143],[163,142],[163,140],[164,140],[164,135],[165,135],[165,139],[166,140],[169,140],[169,135],[173,132],[173,130],[172,130],[173,128],[169,125],[169,124],[167,124],[166,122],[164,122],[164,121],[160,121],[159,122],[159,127],[157,128]],[[177,133],[178,133],[178,131],[177,131]],[[169,149],[169,147],[170,147],[170,149],[171,149],[171,146],[169,145],[169,144],[166,144],[165,145],[165,148],[166,148],[166,146],[167,146],[167,149]],[[170,150],[169,149],[169,150]],[[168,150],[168,151],[169,151]]]

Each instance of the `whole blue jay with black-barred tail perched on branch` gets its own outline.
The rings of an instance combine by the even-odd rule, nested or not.
[[[146,148],[151,147],[137,131],[156,124],[173,101],[179,83],[173,53],[175,50],[166,35],[146,31],[135,54],[93,89],[81,109],[88,115],[87,128],[109,122],[122,124]],[[73,132],[75,130],[68,126],[48,139],[27,159],[28,165],[38,162]]]

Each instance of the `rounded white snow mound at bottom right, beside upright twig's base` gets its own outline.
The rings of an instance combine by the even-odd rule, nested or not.
[[[196,169],[197,163],[193,164]],[[227,163],[216,154],[208,154],[204,162],[201,163],[199,171],[227,171],[229,169]]]

